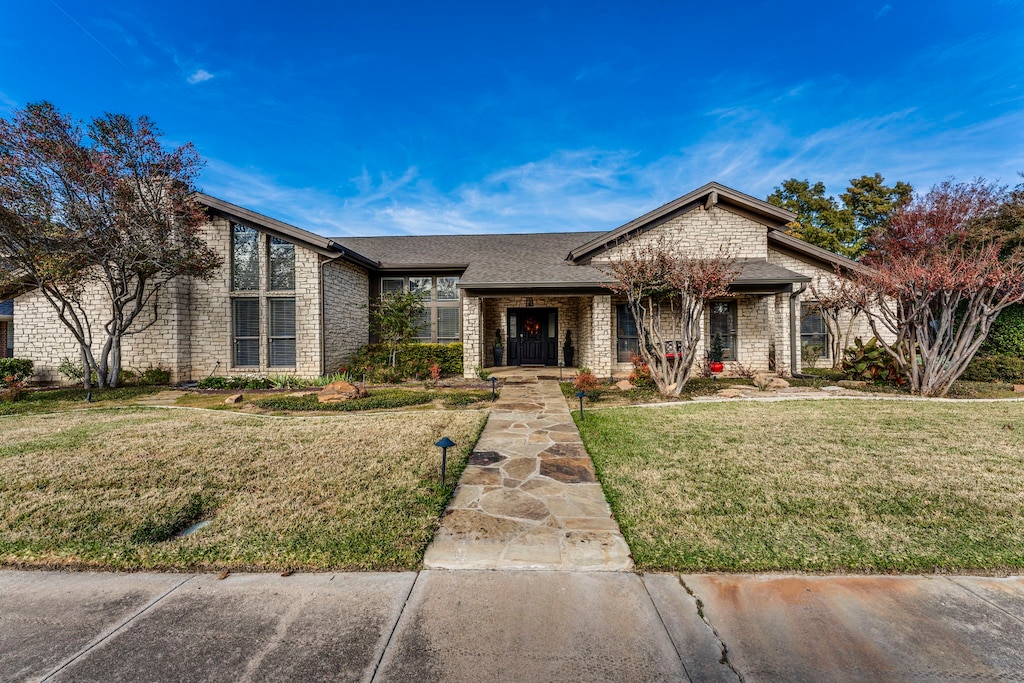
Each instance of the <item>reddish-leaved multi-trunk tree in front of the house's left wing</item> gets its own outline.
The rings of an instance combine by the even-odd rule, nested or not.
[[[49,102],[0,120],[0,284],[36,288],[78,342],[85,386],[116,387],[121,345],[158,319],[175,278],[209,279],[195,147],[166,150],[145,117],[88,124]],[[98,349],[97,349],[98,344]]]

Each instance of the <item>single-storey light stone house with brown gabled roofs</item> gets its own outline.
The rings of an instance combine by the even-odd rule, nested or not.
[[[125,339],[126,368],[162,366],[175,381],[334,372],[370,340],[369,304],[381,292],[410,291],[426,304],[421,339],[462,341],[467,377],[493,365],[496,335],[505,365],[564,362],[571,333],[573,365],[598,376],[628,372],[637,331],[606,287],[606,264],[657,239],[736,259],[733,296],[714,302],[706,321],[705,339],[722,336],[727,372],[791,374],[802,348],[827,349],[820,318],[806,314],[808,285],[857,267],[785,234],[791,212],[715,182],[591,232],[331,239],[199,200],[210,216],[204,237],[224,266],[210,281],[167,289],[153,325]],[[37,380],[58,380],[61,359],[78,355],[71,336],[37,292],[18,296],[14,314],[18,355],[35,361]]]

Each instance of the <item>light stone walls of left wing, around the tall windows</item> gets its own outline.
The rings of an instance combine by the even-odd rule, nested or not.
[[[254,226],[255,227],[255,226]],[[332,298],[327,321],[322,305],[321,267],[325,257],[296,245],[295,289],[269,291],[267,236],[259,233],[260,283],[252,292],[232,292],[230,271],[230,221],[215,217],[202,228],[206,243],[224,259],[224,264],[208,281],[176,279],[166,286],[157,306],[157,321],[141,333],[122,342],[122,365],[143,370],[160,366],[171,370],[172,381],[202,379],[210,375],[243,373],[281,373],[315,377],[330,362],[340,365],[369,339],[368,318],[359,304],[368,301],[367,271],[348,263],[324,264],[324,289]],[[349,297],[357,296],[357,299]],[[234,297],[258,297],[260,301],[260,365],[233,368],[231,303]],[[294,368],[268,365],[267,300],[294,297],[296,306],[296,362]],[[80,352],[71,333],[57,319],[52,307],[38,291],[17,298],[15,346],[24,357],[36,364],[37,381],[55,382],[60,377],[61,358],[78,361]],[[102,316],[102,297],[93,296],[87,305],[98,330]],[[145,321],[148,322],[148,321]],[[328,325],[321,346],[321,330]],[[94,335],[94,349],[102,340]]]

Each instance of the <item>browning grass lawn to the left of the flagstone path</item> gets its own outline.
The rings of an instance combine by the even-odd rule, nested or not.
[[[484,418],[145,408],[0,417],[0,565],[415,569]],[[445,488],[441,436],[458,444]]]

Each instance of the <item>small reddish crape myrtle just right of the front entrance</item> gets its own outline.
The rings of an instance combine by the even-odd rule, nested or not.
[[[679,251],[664,240],[635,245],[607,264],[636,321],[640,355],[658,391],[678,396],[692,373],[712,299],[728,296],[738,271],[724,254]]]

